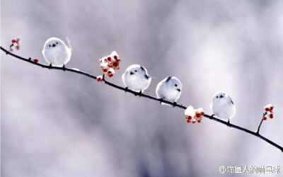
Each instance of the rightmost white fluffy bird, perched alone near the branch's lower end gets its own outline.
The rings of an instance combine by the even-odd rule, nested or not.
[[[230,119],[235,115],[236,105],[234,105],[232,98],[227,93],[223,91],[215,93],[210,108],[212,109],[213,115],[217,118],[228,119],[227,123],[228,126],[230,126]]]

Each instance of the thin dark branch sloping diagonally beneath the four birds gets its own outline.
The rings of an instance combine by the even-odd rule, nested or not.
[[[1,47],[1,46],[0,46],[0,47]],[[83,75],[85,75],[85,76],[88,76],[88,77],[90,77],[91,79],[97,79],[96,76],[93,76],[93,75],[88,74],[88,73],[85,73],[85,72],[81,72],[81,71],[76,70],[76,69],[69,69],[69,68],[63,68],[63,67],[50,67],[49,65],[39,64],[39,63],[37,63],[37,62],[33,62],[33,60],[32,60],[31,58],[25,59],[25,58],[23,58],[23,57],[20,57],[20,56],[18,56],[18,55],[15,55],[15,54],[13,54],[13,53],[11,53],[11,52],[8,52],[8,50],[4,49],[3,47],[1,47],[1,50],[3,50],[4,52],[6,52],[6,55],[11,55],[11,56],[13,56],[13,57],[16,57],[16,58],[18,58],[18,59],[21,59],[21,60],[23,60],[23,61],[25,61],[25,62],[29,62],[29,63],[31,63],[31,64],[35,64],[35,65],[37,65],[37,66],[39,66],[39,67],[42,67],[42,68],[58,69],[58,70],[62,70],[62,71],[75,72],[75,73],[77,73],[77,74],[83,74]],[[106,81],[105,78],[104,78],[104,76],[103,76],[103,80],[102,80],[102,81],[103,81],[105,84],[107,84],[108,86],[112,86],[112,87],[114,87],[114,88],[116,88],[116,89],[120,89],[120,90],[122,90],[122,91],[132,93],[132,94],[134,94],[134,96],[149,98],[149,99],[151,99],[151,100],[158,101],[158,102],[160,102],[160,103],[167,103],[168,105],[172,105],[173,107],[182,108],[182,109],[184,109],[184,110],[187,108],[187,107],[185,107],[184,105],[179,105],[179,104],[177,104],[177,103],[173,103],[173,102],[170,102],[170,101],[165,101],[165,100],[156,98],[156,97],[154,97],[154,96],[146,95],[146,94],[144,94],[144,93],[139,93],[139,92],[136,92],[136,91],[132,91],[132,90],[129,90],[129,89],[124,88],[124,87],[122,87],[122,86],[117,86],[117,85],[115,85],[115,84],[112,84],[112,83],[109,82],[109,81]],[[260,139],[264,140],[265,142],[268,142],[269,144],[272,144],[272,146],[277,147],[278,149],[280,149],[280,150],[283,152],[283,147],[279,146],[279,145],[276,144],[275,142],[272,142],[270,139],[267,139],[266,137],[262,137],[262,135],[259,134],[259,128],[258,128],[258,131],[257,131],[257,132],[252,132],[252,131],[250,131],[250,130],[247,130],[246,128],[239,127],[238,125],[233,125],[233,124],[231,124],[231,123],[225,122],[224,120],[220,120],[220,119],[218,119],[218,118],[214,118],[214,116],[211,116],[211,115],[206,115],[206,114],[204,114],[204,117],[205,117],[205,118],[209,118],[210,120],[214,120],[214,121],[216,121],[216,122],[219,122],[219,123],[221,123],[221,124],[227,125],[227,126],[229,125],[229,127],[235,128],[235,129],[237,129],[237,130],[241,130],[241,131],[246,132],[246,133],[248,133],[248,134],[254,135],[255,137],[259,137]],[[261,123],[260,123],[260,125],[261,125]]]

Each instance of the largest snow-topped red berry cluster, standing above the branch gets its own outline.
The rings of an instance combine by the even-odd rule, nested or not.
[[[120,69],[121,59],[117,52],[113,51],[110,55],[99,59],[100,69],[103,70],[103,74],[112,77],[115,72]]]

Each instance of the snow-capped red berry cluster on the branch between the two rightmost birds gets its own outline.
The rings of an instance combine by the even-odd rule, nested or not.
[[[192,105],[185,110],[185,118],[188,123],[202,122],[202,116],[204,115],[203,108],[194,109]]]

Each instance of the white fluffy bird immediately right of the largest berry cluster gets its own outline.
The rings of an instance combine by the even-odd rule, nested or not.
[[[122,80],[127,89],[141,93],[149,87],[151,76],[149,76],[145,67],[132,64],[122,74]]]

